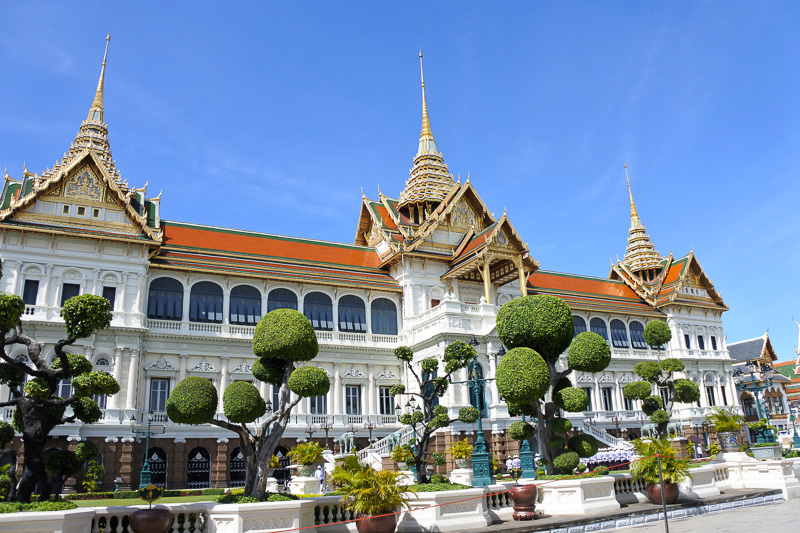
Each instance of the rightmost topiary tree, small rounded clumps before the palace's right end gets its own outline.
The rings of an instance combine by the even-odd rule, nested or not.
[[[660,438],[667,436],[667,427],[672,408],[676,401],[693,403],[700,399],[700,387],[692,380],[675,377],[683,372],[683,361],[675,358],[661,360],[661,347],[672,339],[669,326],[663,320],[653,320],[644,328],[644,340],[654,350],[658,350],[658,361],[643,361],[633,367],[643,381],[628,383],[622,394],[628,400],[642,400],[642,411],[656,425]],[[666,389],[667,405],[658,394],[653,394],[653,385],[657,389]]]

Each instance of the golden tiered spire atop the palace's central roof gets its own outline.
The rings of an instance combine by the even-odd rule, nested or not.
[[[422,130],[419,135],[419,148],[414,157],[414,166],[409,172],[408,181],[400,193],[398,209],[411,204],[438,204],[453,188],[454,180],[442,154],[436,149],[428,103],[425,97],[425,77],[422,73],[422,52],[419,53],[420,78],[422,80]],[[435,208],[436,205],[431,207]]]

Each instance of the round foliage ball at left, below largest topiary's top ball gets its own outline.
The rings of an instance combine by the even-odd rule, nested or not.
[[[534,350],[514,348],[500,360],[496,383],[500,395],[507,401],[531,403],[544,396],[550,387],[550,370]]]

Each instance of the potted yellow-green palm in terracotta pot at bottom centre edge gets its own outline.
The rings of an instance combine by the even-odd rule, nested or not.
[[[395,448],[397,449],[397,448]],[[392,470],[375,471],[358,462],[354,455],[345,457],[333,471],[333,480],[342,494],[342,506],[356,515],[359,533],[393,533],[397,526],[394,510],[408,507],[408,494],[414,491],[398,484],[403,474]]]

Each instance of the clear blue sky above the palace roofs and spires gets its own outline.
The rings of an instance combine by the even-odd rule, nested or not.
[[[800,321],[796,2],[0,2],[0,165],[52,166],[91,104],[162,217],[352,242],[397,197],[417,53],[451,172],[508,210],[542,268],[625,252],[623,162],[656,248],[694,252],[728,342]]]

